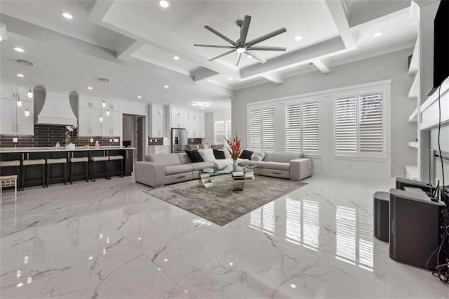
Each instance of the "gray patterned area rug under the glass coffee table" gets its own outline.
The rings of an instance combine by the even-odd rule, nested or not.
[[[220,175],[213,178],[214,186],[208,189],[199,180],[191,180],[145,193],[222,226],[307,185],[256,175],[255,180],[245,181],[245,190],[234,192],[231,180],[230,175]]]

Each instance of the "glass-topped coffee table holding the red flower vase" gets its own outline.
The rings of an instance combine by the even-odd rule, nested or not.
[[[200,173],[200,180],[204,187],[213,187],[213,177],[217,175],[231,174],[232,190],[243,191],[245,188],[245,180],[254,180],[254,168],[257,166],[246,165],[237,166],[236,170],[232,169],[232,166],[226,166],[224,168],[204,168]]]

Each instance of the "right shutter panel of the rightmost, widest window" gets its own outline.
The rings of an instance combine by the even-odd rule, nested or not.
[[[360,152],[383,152],[382,93],[361,95],[358,100],[358,147]]]

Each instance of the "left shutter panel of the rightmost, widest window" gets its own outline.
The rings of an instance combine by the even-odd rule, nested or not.
[[[335,152],[356,152],[356,98],[335,100]]]

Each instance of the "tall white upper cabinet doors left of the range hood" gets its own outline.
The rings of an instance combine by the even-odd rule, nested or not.
[[[29,109],[29,117],[25,110]],[[0,134],[34,135],[33,102],[22,100],[22,107],[17,107],[17,100],[0,99]]]

